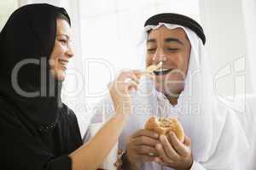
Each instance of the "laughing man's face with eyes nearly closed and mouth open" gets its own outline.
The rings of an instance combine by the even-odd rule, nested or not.
[[[190,49],[190,42],[182,28],[170,30],[161,26],[150,31],[147,40],[147,66],[163,61],[162,67],[154,71],[158,91],[170,97],[177,97],[183,91]]]

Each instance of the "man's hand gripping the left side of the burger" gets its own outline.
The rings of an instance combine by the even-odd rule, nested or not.
[[[126,157],[131,169],[140,169],[143,162],[154,161],[158,153],[156,144],[160,144],[159,135],[146,129],[131,135],[126,145]]]

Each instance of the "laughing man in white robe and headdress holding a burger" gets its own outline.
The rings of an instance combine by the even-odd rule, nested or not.
[[[236,169],[234,161],[247,150],[247,139],[233,111],[219,105],[213,94],[201,26],[181,14],[156,14],[144,26],[146,65],[163,65],[154,71],[153,110],[133,111],[119,137],[119,149],[125,151],[122,168]],[[185,141],[143,129],[151,115],[176,116]]]

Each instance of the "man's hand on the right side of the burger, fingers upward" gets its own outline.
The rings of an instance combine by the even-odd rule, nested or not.
[[[161,144],[155,145],[159,157],[154,161],[176,170],[189,170],[193,164],[189,137],[185,136],[184,143],[181,143],[176,134],[171,132],[168,139],[165,135],[160,136]]]

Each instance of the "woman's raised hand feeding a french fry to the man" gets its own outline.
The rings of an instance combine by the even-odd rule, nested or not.
[[[131,90],[137,90],[140,71],[122,71],[119,76],[110,83],[109,94],[113,100],[116,114],[128,116],[131,114]]]

